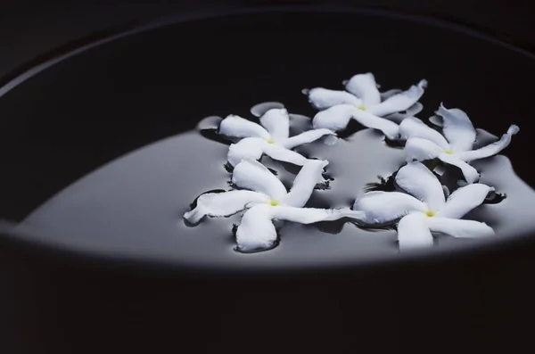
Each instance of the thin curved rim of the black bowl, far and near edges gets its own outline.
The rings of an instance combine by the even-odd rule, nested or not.
[[[410,14],[405,12],[395,12],[383,9],[370,9],[348,5],[310,5],[310,4],[276,4],[276,5],[256,5],[256,6],[226,6],[226,8],[205,9],[198,12],[187,12],[181,14],[172,14],[169,16],[160,17],[156,20],[147,21],[144,23],[136,22],[130,23],[128,26],[121,27],[119,30],[114,28],[114,31],[100,31],[95,38],[95,34],[88,37],[83,37],[80,40],[62,45],[55,48],[48,54],[40,56],[38,59],[41,62],[35,61],[23,64],[19,69],[13,70],[4,78],[0,78],[0,99],[7,92],[11,91],[23,81],[32,78],[37,73],[46,70],[58,62],[62,62],[71,56],[86,52],[91,48],[99,45],[109,43],[122,37],[129,37],[144,31],[159,29],[183,21],[198,21],[210,20],[226,15],[246,15],[260,12],[351,12],[367,16],[381,16],[392,19],[399,19],[402,21],[418,22],[428,26],[439,27],[442,29],[449,29],[462,33],[466,36],[475,37],[484,40],[493,45],[500,45],[504,49],[512,50],[517,54],[527,56],[535,59],[535,54],[526,49],[515,45],[508,44],[496,37],[491,37],[488,34],[481,33],[475,29],[469,28],[464,24],[459,24],[451,21],[444,21],[428,15]],[[62,53],[63,52],[63,53]],[[46,59],[43,59],[46,58]],[[13,72],[15,74],[13,74]],[[161,274],[162,271],[170,271],[172,274],[177,274],[177,271],[182,276],[274,276],[281,275],[292,276],[292,274],[314,274],[318,276],[324,272],[332,273],[333,271],[348,271],[357,269],[378,269],[381,267],[391,268],[391,266],[421,266],[431,262],[450,262],[452,260],[459,261],[462,259],[473,259],[474,256],[494,257],[499,253],[512,252],[514,250],[525,247],[528,243],[533,243],[533,236],[531,234],[518,235],[507,238],[490,238],[480,240],[478,243],[470,243],[464,245],[457,245],[455,247],[435,247],[431,250],[420,250],[404,252],[403,254],[384,254],[368,258],[358,258],[351,262],[346,262],[344,265],[318,265],[301,266],[300,268],[225,268],[221,271],[211,268],[188,268],[185,265],[169,262],[168,260],[144,260],[137,258],[122,258],[117,255],[104,255],[92,251],[82,251],[73,249],[69,246],[65,247],[59,244],[50,242],[36,242],[40,233],[34,230],[31,231],[17,231],[14,230],[15,224],[8,220],[0,219],[0,246],[14,246],[19,249],[26,249],[33,255],[45,256],[50,259],[62,259],[70,264],[86,264],[92,268],[103,267],[106,269],[127,269],[127,270],[143,270],[152,273],[156,271]],[[28,238],[28,235],[34,237]],[[475,257],[477,258],[477,257]]]

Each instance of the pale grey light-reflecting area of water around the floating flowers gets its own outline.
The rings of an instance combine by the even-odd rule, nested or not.
[[[294,133],[305,125],[304,119],[294,120]],[[212,128],[218,120],[205,119],[200,127]],[[24,225],[54,235],[55,242],[70,247],[218,268],[325,263],[333,258],[350,261],[397,252],[395,231],[365,230],[343,221],[284,224],[276,249],[247,255],[233,251],[233,226],[243,213],[186,225],[182,215],[199,194],[231,189],[231,174],[224,168],[227,145],[206,136],[210,135],[189,131],[112,161],[54,196]],[[402,150],[385,144],[383,136],[371,129],[359,130],[332,146],[317,141],[298,150],[330,161],[326,168],[333,179],[330,187],[316,190],[307,204],[315,208],[350,207],[366,185],[380,182],[380,177],[388,179],[404,162]],[[298,168],[267,156],[262,161],[284,185],[292,185]],[[514,174],[508,159],[497,156],[476,167],[481,170],[481,182],[495,185],[506,199],[482,205],[466,218],[487,222],[497,237],[532,231],[535,192]],[[440,245],[472,242],[452,237],[437,241]]]

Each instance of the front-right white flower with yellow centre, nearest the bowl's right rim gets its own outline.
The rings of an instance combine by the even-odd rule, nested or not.
[[[420,162],[410,162],[399,169],[396,185],[410,193],[368,192],[355,201],[353,210],[365,212],[368,225],[384,225],[399,220],[399,248],[432,245],[432,232],[455,237],[494,235],[490,226],[473,220],[461,220],[481,204],[494,188],[473,184],[460,187],[446,201],[439,180]]]

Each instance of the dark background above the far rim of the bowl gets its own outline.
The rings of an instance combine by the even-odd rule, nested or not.
[[[121,22],[143,21],[213,6],[265,3],[350,4],[422,13],[469,23],[473,28],[492,32],[508,41],[535,46],[532,21],[535,11],[529,0],[4,0],[0,5],[0,78],[21,62],[55,46]]]

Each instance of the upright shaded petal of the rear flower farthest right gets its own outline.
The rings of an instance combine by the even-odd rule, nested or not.
[[[457,108],[448,110],[441,103],[439,110],[435,113],[442,117],[442,131],[453,151],[465,152],[472,150],[473,142],[475,141],[475,129],[466,113]]]

